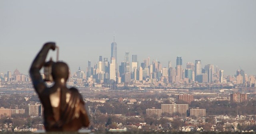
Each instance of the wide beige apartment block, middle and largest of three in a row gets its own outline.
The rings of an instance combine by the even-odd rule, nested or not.
[[[181,114],[181,116],[186,116],[188,112],[188,104],[161,104],[161,112],[169,114]]]

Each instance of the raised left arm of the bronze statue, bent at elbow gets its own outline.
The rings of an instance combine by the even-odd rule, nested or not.
[[[44,91],[44,89],[46,88],[46,85],[44,84],[44,80],[40,75],[40,69],[43,67],[45,63],[45,59],[48,54],[48,51],[50,49],[55,50],[55,47],[56,45],[54,42],[45,43],[42,49],[36,55],[36,58],[34,59],[30,67],[30,70],[29,70],[30,77],[34,85],[34,88],[38,94],[42,93],[42,91]]]

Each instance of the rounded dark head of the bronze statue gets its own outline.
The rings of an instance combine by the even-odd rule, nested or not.
[[[58,80],[64,78],[65,81],[68,80],[69,69],[68,65],[64,62],[56,62],[52,65],[52,78],[53,80]]]

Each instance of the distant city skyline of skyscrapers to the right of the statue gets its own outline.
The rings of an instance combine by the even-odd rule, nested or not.
[[[182,67],[182,57],[176,59],[176,67],[172,67],[172,63],[168,62],[168,68],[162,67],[160,61],[150,61],[150,57],[143,60],[139,64],[137,55],[132,55],[130,60],[130,52],[124,53],[124,60],[118,65],[117,43],[111,44],[111,59],[99,56],[99,61],[92,66],[92,62],[88,61],[87,73],[78,70],[76,78],[84,79],[89,83],[226,83],[224,79],[224,71],[214,65],[205,65],[202,68],[201,60],[195,60],[195,63],[186,63],[186,68]],[[243,70],[237,74],[237,84],[245,83],[246,74]],[[253,79],[254,78],[254,79]],[[251,83],[255,83],[255,77],[250,79]],[[241,81],[242,80],[242,81]],[[248,77],[247,77],[248,81]]]

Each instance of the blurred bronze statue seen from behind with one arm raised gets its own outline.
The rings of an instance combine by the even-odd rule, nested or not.
[[[48,51],[56,49],[54,42],[44,44],[30,67],[30,77],[34,88],[44,106],[44,127],[46,131],[77,131],[89,125],[85,103],[75,88],[68,89],[68,65],[51,61],[54,85],[46,87],[40,69],[46,64]],[[49,63],[48,63],[49,65]]]

